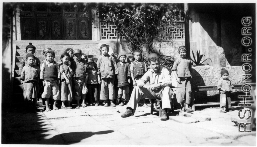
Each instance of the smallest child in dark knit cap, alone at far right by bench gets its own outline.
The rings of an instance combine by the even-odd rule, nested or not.
[[[217,86],[218,91],[220,93],[220,108],[221,108],[220,112],[226,113],[226,111],[232,111],[230,93],[232,89],[234,89],[234,86],[231,84],[231,81],[228,79],[228,70],[222,68],[220,75],[222,79],[218,81],[218,86]]]

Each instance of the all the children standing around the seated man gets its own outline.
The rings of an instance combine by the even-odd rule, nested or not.
[[[129,101],[133,86],[136,86],[137,81],[147,72],[147,66],[141,60],[142,54],[136,50],[134,56],[127,57],[124,52],[113,53],[110,56],[108,45],[103,44],[100,49],[102,56],[99,59],[87,59],[80,49],[68,48],[60,57],[62,63],[58,64],[54,60],[55,52],[50,48],[43,50],[46,59],[40,62],[34,56],[36,47],[29,43],[26,46],[27,55],[22,59],[19,67],[19,76],[23,81],[25,100],[33,100],[33,111],[37,110],[36,98],[40,94],[45,100],[46,111],[51,111],[50,98],[53,100],[53,110],[58,110],[56,107],[58,100],[62,101],[62,109],[72,109],[71,101],[73,99],[76,100],[76,108],[86,107],[86,98],[90,106],[99,106],[100,104],[109,106],[110,102],[110,106],[115,107],[116,105],[113,103],[115,99],[120,106],[125,105]],[[194,101],[190,84],[192,62],[186,57],[186,53],[186,47],[180,46],[180,58],[175,61],[172,71],[178,81],[177,87],[181,87],[176,90],[181,111],[193,111],[190,108],[191,102]],[[229,94],[233,86],[228,80],[227,70],[221,70],[221,77],[222,79],[218,82],[218,90],[221,93],[221,112],[224,113],[231,110],[229,109],[231,108]],[[143,106],[147,107],[145,99],[143,99]]]

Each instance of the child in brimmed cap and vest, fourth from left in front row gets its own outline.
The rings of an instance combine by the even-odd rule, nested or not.
[[[86,75],[86,60],[82,59],[82,54],[81,50],[75,49],[74,50],[74,60],[71,62],[71,68],[74,72],[74,93],[75,96],[74,98],[77,100],[77,107],[76,109],[79,109],[80,107],[86,107],[86,93],[87,93],[87,88],[86,88],[86,82],[87,82],[87,75]],[[82,104],[80,106],[79,100],[82,97]]]

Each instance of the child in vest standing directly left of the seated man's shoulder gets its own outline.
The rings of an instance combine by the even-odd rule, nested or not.
[[[137,86],[137,81],[143,77],[143,75],[147,72],[147,67],[145,63],[141,60],[142,54],[139,50],[134,51],[134,58],[135,61],[131,62],[130,64],[130,73],[131,78],[133,80],[133,85]],[[143,106],[148,107],[145,103],[145,98],[143,99]]]

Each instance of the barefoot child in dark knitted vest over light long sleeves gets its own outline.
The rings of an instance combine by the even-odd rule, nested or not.
[[[59,84],[61,73],[58,63],[54,61],[55,53],[53,50],[46,51],[46,62],[41,67],[40,79],[44,85],[42,98],[46,99],[46,111],[51,111],[49,108],[49,98],[54,100],[53,110],[58,110],[56,101],[60,99]]]

